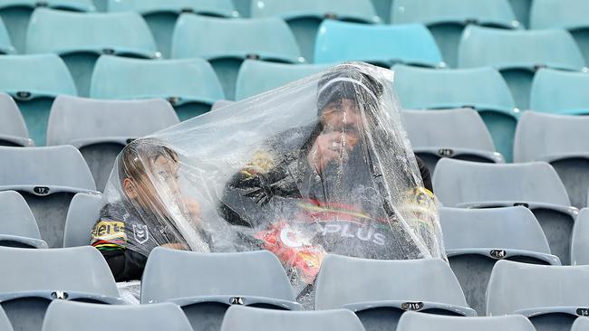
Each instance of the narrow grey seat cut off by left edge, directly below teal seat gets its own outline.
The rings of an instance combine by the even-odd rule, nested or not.
[[[30,147],[34,141],[24,124],[21,111],[14,99],[0,92],[0,146]]]

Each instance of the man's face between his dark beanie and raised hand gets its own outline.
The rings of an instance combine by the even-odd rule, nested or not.
[[[362,115],[353,99],[338,99],[322,110],[323,127],[327,131],[357,133],[362,130]]]

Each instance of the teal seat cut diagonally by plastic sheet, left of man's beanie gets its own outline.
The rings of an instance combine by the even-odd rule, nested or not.
[[[239,68],[236,99],[246,99],[330,68],[326,64],[287,64],[246,60]]]

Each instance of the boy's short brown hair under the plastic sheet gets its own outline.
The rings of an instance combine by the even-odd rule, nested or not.
[[[130,178],[133,181],[140,181],[140,176],[146,174],[145,162],[155,160],[163,156],[178,162],[178,154],[169,147],[166,147],[159,140],[137,139],[123,148],[118,160],[119,179]]]

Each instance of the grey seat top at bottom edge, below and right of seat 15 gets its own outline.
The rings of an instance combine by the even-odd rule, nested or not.
[[[526,317],[512,315],[502,317],[447,317],[407,312],[399,321],[397,331],[536,331]]]

